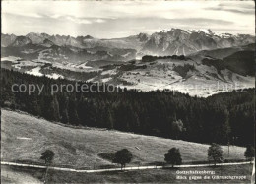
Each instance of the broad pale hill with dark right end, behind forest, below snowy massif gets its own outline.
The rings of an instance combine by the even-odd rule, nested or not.
[[[210,56],[144,56],[141,61],[126,63],[125,66],[102,67],[103,72],[90,81],[107,82],[127,89],[168,89],[207,97],[235,88],[254,87],[253,54],[253,51],[243,50],[223,60]]]

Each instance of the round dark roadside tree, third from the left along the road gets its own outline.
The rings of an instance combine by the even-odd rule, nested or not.
[[[172,167],[174,165],[180,165],[182,163],[182,158],[181,158],[181,155],[179,153],[179,149],[176,149],[175,147],[170,149],[168,151],[168,153],[166,153],[164,156],[165,156],[164,160],[167,163],[171,164]]]

